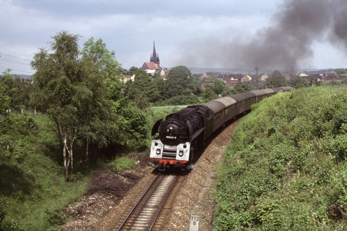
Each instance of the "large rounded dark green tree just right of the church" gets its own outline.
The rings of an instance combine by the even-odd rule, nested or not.
[[[191,72],[186,66],[173,67],[167,76],[167,98],[189,95],[192,91]]]

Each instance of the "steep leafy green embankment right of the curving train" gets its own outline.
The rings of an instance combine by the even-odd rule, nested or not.
[[[344,230],[347,87],[254,105],[219,166],[215,230]]]

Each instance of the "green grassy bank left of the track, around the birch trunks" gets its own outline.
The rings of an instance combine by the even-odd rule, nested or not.
[[[49,117],[12,114],[0,122],[0,230],[54,230],[69,219],[65,206],[90,188],[91,170],[120,172],[136,165],[116,157],[82,168],[84,152],[77,143],[75,173],[65,182],[62,149]]]

